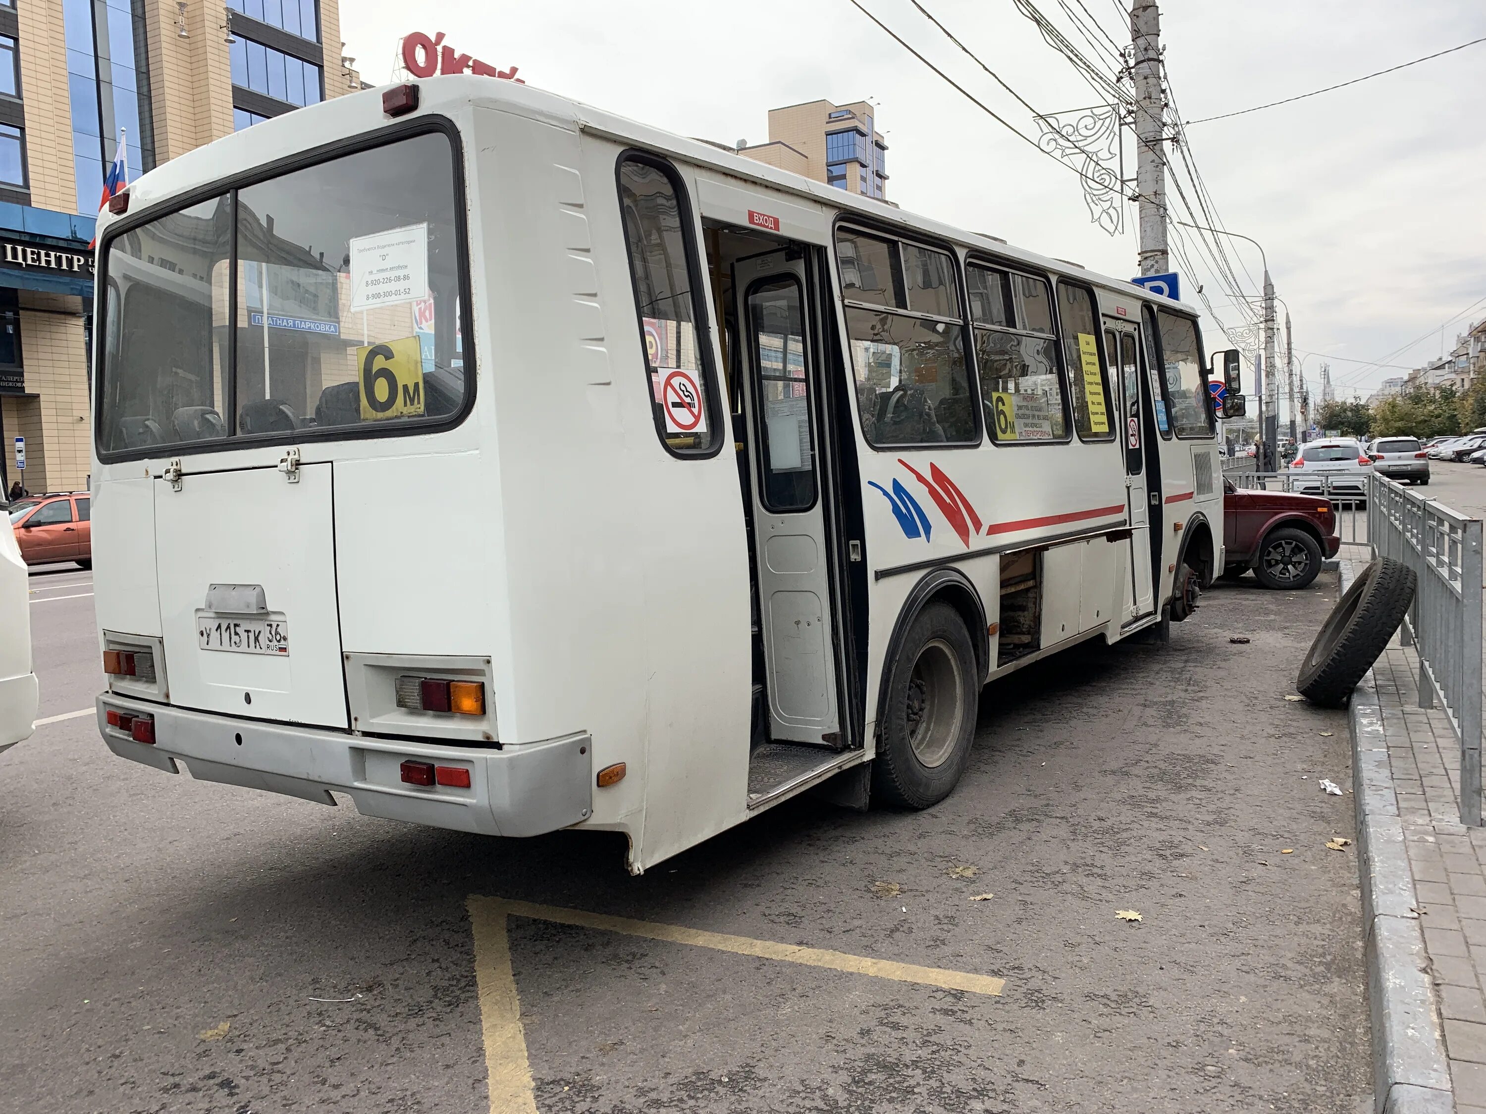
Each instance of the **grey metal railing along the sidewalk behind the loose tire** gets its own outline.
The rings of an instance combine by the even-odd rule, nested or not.
[[[1372,551],[1419,576],[1403,643],[1419,655],[1419,707],[1435,698],[1461,741],[1461,823],[1482,824],[1482,521],[1370,477]]]

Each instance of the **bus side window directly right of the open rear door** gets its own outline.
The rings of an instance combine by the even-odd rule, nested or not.
[[[954,258],[841,229],[837,261],[868,444],[979,441]]]

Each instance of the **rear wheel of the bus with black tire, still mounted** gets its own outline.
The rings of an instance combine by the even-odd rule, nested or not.
[[[960,781],[975,741],[981,677],[954,608],[936,602],[918,612],[886,685],[872,792],[901,808],[929,808]]]

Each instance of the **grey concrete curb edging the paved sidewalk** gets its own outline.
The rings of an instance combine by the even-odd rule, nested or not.
[[[1342,561],[1340,570],[1346,591],[1357,564]],[[1372,670],[1352,692],[1348,717],[1373,1029],[1373,1108],[1379,1114],[1452,1114],[1450,1068]]]

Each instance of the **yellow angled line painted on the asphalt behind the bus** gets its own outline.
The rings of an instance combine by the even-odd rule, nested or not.
[[[633,921],[627,916],[590,913],[583,909],[560,909],[532,902],[508,902],[501,897],[471,894],[465,902],[474,931],[474,974],[480,998],[480,1025],[484,1034],[484,1065],[490,1077],[490,1114],[535,1114],[532,1068],[526,1056],[526,1032],[522,1028],[522,1003],[511,970],[511,943],[505,931],[507,918],[526,916],[533,921],[571,924],[580,928],[642,936],[648,940],[688,943],[734,955],[798,962],[805,967],[826,967],[847,974],[871,974],[877,979],[939,986],[947,991],[969,991],[999,997],[1005,979],[993,974],[970,974],[942,967],[920,967],[911,962],[872,960],[820,948],[792,943],[753,940],[747,936],[709,933],[676,924]]]

